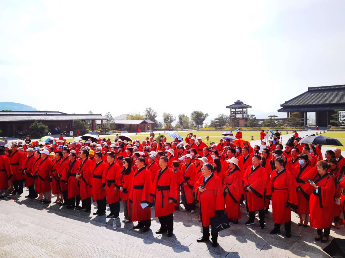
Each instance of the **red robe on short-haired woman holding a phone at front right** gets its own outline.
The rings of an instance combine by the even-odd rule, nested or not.
[[[317,186],[318,193],[313,187],[310,195],[310,226],[313,228],[329,228],[333,221],[333,205],[335,195],[334,180],[328,173],[317,174],[312,180]]]

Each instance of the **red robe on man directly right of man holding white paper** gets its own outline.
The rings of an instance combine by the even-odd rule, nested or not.
[[[155,216],[162,217],[175,211],[177,203],[176,178],[174,171],[168,166],[158,170],[152,185],[152,195],[156,197]],[[172,200],[172,203],[169,203]]]

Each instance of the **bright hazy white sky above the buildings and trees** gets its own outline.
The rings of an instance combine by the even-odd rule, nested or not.
[[[345,1],[0,1],[0,101],[113,116],[277,111],[345,84]],[[286,114],[282,114],[283,117]]]

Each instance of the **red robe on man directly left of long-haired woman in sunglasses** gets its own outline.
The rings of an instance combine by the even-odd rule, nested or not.
[[[116,203],[120,200],[120,166],[115,161],[111,164],[108,164],[108,168],[106,171],[105,181],[106,189],[107,189],[107,204]],[[116,193],[114,193],[114,189],[117,187]]]

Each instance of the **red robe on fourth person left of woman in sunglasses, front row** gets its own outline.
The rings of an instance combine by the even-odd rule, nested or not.
[[[67,198],[73,198],[79,195],[79,186],[78,180],[76,179],[76,175],[79,171],[80,161],[75,160],[73,164],[70,160],[66,161],[67,164],[65,166],[65,172],[61,175],[60,181],[63,183],[67,183]]]

